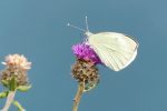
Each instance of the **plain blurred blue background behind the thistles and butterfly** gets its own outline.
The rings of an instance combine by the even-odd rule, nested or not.
[[[140,46],[127,69],[99,67],[101,81],[85,93],[79,111],[167,111],[166,4],[166,0],[0,0],[0,61],[8,53],[23,53],[32,62],[32,89],[17,93],[17,99],[28,111],[71,111],[77,90],[70,75],[71,46],[82,34],[66,24],[85,28],[88,16],[91,32],[124,32]],[[3,103],[0,100],[0,108]]]

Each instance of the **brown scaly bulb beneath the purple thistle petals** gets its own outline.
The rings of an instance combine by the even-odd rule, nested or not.
[[[99,74],[96,64],[91,61],[78,59],[72,65],[72,77],[78,82],[85,83],[85,91],[94,89],[99,82]]]

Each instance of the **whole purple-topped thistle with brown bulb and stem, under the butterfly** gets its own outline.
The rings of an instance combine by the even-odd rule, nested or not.
[[[72,77],[79,83],[73,100],[73,111],[77,111],[82,93],[90,91],[99,83],[99,73],[96,64],[101,63],[101,61],[90,46],[86,43],[72,46],[72,51],[77,58],[76,63],[71,68]]]

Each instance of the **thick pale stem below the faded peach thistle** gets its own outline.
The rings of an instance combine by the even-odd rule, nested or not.
[[[1,111],[8,111],[13,99],[14,99],[14,95],[16,95],[16,91],[10,91],[8,97],[7,97],[7,101],[6,101],[6,104],[3,107],[3,109]]]

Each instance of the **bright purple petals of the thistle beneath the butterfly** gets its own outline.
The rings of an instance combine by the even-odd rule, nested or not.
[[[96,52],[90,48],[89,44],[78,43],[72,46],[72,51],[78,59],[82,59],[86,61],[91,61],[92,63],[101,63],[99,57]]]

